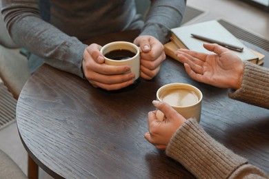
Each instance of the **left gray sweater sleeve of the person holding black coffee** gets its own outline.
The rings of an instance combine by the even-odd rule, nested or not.
[[[43,21],[39,15],[39,6],[34,0],[3,0],[2,6],[1,12],[8,32],[17,45],[40,56],[53,67],[83,76],[81,61],[83,50],[88,45]]]

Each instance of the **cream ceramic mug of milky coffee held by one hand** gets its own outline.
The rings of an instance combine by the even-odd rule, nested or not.
[[[165,99],[163,96],[168,96],[169,93],[181,93],[175,94],[175,96],[170,96]],[[190,92],[190,94],[188,93]],[[195,99],[196,98],[196,99]],[[186,83],[170,83],[167,85],[163,85],[157,91],[157,100],[165,101],[169,105],[171,105],[179,114],[181,114],[184,118],[195,118],[199,123],[201,117],[201,101],[203,98],[203,94],[201,91],[192,85],[188,85]],[[175,101],[185,101],[181,105],[178,105],[180,102]],[[177,105],[175,105],[177,103]],[[158,116],[161,116],[160,111],[157,111],[157,118],[161,120]],[[163,116],[162,116],[163,118]]]

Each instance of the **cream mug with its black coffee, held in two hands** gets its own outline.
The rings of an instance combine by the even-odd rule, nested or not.
[[[137,45],[127,41],[114,41],[104,45],[100,52],[105,56],[108,65],[128,65],[135,74],[135,80],[140,76],[140,51]]]

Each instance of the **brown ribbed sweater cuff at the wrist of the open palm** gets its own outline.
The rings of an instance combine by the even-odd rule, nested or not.
[[[251,105],[269,109],[269,70],[266,67],[244,62],[241,88],[230,92],[229,97]]]

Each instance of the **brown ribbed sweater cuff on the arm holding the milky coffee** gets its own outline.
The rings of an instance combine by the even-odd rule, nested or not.
[[[247,163],[245,158],[217,143],[193,119],[179,127],[166,154],[197,178],[228,178],[235,169]]]

